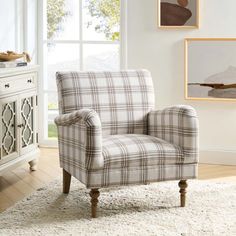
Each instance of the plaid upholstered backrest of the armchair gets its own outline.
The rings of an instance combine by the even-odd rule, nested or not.
[[[146,70],[57,72],[60,114],[94,109],[103,135],[146,134],[154,108],[152,78]]]

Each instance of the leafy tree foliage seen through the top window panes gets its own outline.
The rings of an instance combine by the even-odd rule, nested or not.
[[[53,39],[63,30],[63,21],[69,16],[65,0],[47,0],[47,36]],[[119,40],[120,0],[85,0],[92,18],[97,20],[95,31],[104,33],[108,40]],[[88,27],[92,21],[88,22]]]

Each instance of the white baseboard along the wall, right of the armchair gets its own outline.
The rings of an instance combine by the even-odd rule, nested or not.
[[[236,151],[202,150],[200,151],[200,163],[236,165]]]

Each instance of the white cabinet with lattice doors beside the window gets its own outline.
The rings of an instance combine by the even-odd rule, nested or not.
[[[38,159],[38,66],[0,69],[0,174]]]

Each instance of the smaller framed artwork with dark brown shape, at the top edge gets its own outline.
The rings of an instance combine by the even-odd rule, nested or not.
[[[199,28],[199,0],[158,0],[160,28]]]

